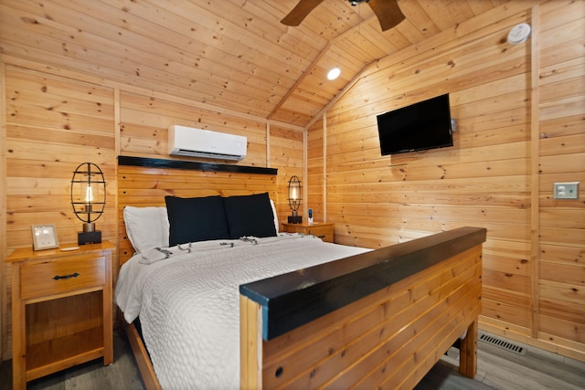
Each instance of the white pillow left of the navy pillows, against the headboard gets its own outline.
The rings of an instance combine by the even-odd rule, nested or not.
[[[167,248],[169,223],[166,207],[124,207],[126,234],[136,252]]]

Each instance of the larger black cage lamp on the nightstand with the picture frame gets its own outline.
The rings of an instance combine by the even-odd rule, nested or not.
[[[101,242],[101,231],[95,229],[95,221],[106,206],[106,182],[95,163],[80,163],[71,179],[71,206],[73,213],[83,222],[78,233],[78,244]]]

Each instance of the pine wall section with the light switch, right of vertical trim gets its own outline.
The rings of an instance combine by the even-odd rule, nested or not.
[[[585,179],[585,133],[574,127],[577,117],[585,114],[582,91],[582,42],[585,37],[585,4],[553,2],[541,7],[538,60],[540,101],[537,115],[540,125],[540,206],[538,249],[539,275],[537,302],[537,337],[582,352],[585,329],[582,267],[585,252],[585,227],[580,215],[585,210],[582,195],[578,200],[555,200],[553,184]],[[566,279],[561,279],[561,278]],[[580,343],[580,345],[579,345]]]

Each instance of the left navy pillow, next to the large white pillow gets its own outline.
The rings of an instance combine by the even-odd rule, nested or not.
[[[182,198],[165,196],[169,246],[208,239],[229,238],[229,227],[221,196]]]

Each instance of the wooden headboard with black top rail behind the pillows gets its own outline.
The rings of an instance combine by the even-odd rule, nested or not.
[[[118,157],[118,258],[120,265],[133,255],[123,221],[124,206],[165,206],[165,195],[252,195],[268,192],[277,202],[272,168],[197,163],[141,157]]]

